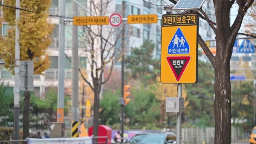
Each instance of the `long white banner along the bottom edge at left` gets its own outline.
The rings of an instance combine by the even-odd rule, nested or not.
[[[28,139],[27,144],[92,144],[92,137]]]

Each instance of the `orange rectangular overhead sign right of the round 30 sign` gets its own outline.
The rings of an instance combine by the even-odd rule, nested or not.
[[[157,23],[157,21],[158,21],[157,14],[127,16],[128,24],[150,24],[150,23]]]

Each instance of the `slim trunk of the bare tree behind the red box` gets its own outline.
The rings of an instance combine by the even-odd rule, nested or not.
[[[94,116],[93,116],[93,136],[98,136],[98,126],[99,126],[99,91],[95,87],[94,91]],[[96,144],[97,139],[93,139],[93,144]]]

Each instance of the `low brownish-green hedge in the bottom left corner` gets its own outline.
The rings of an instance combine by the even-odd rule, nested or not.
[[[19,132],[19,137],[22,139],[22,131]],[[13,139],[13,128],[0,127],[0,141],[8,141]]]

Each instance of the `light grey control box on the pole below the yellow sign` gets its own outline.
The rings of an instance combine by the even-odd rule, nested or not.
[[[166,97],[166,112],[184,112],[184,98]]]

